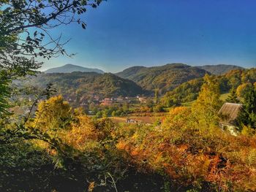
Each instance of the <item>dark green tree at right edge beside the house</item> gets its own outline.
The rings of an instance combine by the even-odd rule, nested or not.
[[[241,112],[238,114],[238,124],[256,128],[256,90],[249,88],[244,96],[244,104]]]

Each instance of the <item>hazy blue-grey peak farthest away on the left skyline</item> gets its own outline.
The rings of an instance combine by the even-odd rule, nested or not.
[[[103,74],[104,72],[100,69],[90,69],[83,66],[76,66],[72,64],[67,64],[64,66],[48,69],[45,73],[72,73],[72,72],[97,72]]]

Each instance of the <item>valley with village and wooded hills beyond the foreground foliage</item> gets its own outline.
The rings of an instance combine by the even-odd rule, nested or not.
[[[80,69],[78,66],[70,67],[72,71]],[[214,66],[206,66],[206,68],[214,69]],[[29,77],[16,84],[27,88],[32,86],[34,90],[42,90],[47,85],[51,85],[56,91],[53,95],[63,96],[72,107],[81,107],[87,115],[97,118],[119,117],[113,120],[125,122],[127,118],[138,119],[144,115],[145,120],[139,121],[152,124],[158,118],[150,117],[155,116],[157,112],[162,113],[159,115],[161,117],[171,107],[191,107],[203,85],[205,74],[211,74],[218,81],[222,102],[225,102],[230,95],[230,89],[238,88],[244,79],[252,83],[256,81],[255,69],[225,65],[217,66],[217,69],[223,70],[222,75],[211,74],[185,64],[167,64],[150,68],[135,66],[118,74],[79,71],[42,72],[37,74],[37,77]],[[148,77],[151,77],[151,80]],[[159,77],[165,81],[166,88],[160,89],[155,86],[144,88],[141,85],[142,82],[147,82],[148,85],[160,87],[162,83],[157,81]]]

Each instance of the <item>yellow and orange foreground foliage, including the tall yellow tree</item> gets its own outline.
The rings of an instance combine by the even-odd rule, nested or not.
[[[102,187],[102,180],[111,189],[118,183],[124,187],[122,183],[129,183],[134,172],[142,179],[157,174],[164,182],[156,183],[165,191],[175,185],[181,191],[256,191],[256,136],[235,137],[219,128],[218,109],[219,85],[206,75],[195,104],[171,108],[161,124],[89,118],[54,96],[39,103],[27,126],[59,141],[59,148],[34,141],[56,167],[67,166],[71,159],[93,172],[84,173],[89,191]]]

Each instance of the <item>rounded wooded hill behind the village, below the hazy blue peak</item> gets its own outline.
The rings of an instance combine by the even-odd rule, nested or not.
[[[53,84],[58,94],[65,98],[90,99],[94,95],[102,98],[112,96],[137,96],[146,93],[139,85],[131,80],[124,80],[115,74],[98,74],[95,72],[72,72],[39,74],[23,82],[38,88]]]

